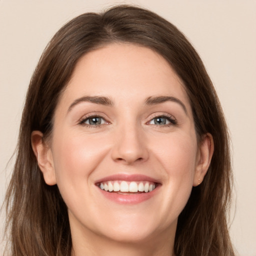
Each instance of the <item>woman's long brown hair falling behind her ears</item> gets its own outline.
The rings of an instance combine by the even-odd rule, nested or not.
[[[186,37],[157,14],[135,6],[114,6],[72,19],[53,36],[32,75],[23,109],[17,157],[6,193],[11,255],[70,255],[66,205],[56,185],[45,184],[30,135],[50,136],[52,116],[77,60],[112,42],[146,46],[162,55],[185,85],[198,140],[211,133],[214,153],[203,182],[192,188],[178,217],[174,252],[233,255],[226,216],[231,194],[229,137],[224,116],[203,63]]]

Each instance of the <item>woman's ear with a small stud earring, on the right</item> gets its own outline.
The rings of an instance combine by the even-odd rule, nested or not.
[[[212,135],[210,133],[206,133],[203,135],[198,147],[193,186],[197,186],[202,182],[210,165],[213,150],[214,142]]]

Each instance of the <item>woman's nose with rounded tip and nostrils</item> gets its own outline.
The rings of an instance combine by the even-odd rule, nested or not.
[[[112,159],[125,164],[143,162],[148,159],[146,139],[137,127],[122,127],[115,133]]]

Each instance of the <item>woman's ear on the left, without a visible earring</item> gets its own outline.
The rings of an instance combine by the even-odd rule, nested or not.
[[[31,133],[31,145],[34,155],[37,159],[38,166],[43,174],[46,184],[55,185],[55,169],[50,147],[43,141],[43,134],[39,130]]]

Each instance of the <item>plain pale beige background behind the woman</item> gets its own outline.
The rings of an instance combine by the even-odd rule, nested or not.
[[[25,91],[46,43],[70,18],[124,2],[145,6],[174,23],[202,57],[233,141],[232,241],[239,255],[255,256],[255,0],[0,0],[0,203],[13,164],[6,167],[15,148]],[[0,235],[3,221],[1,216]]]

